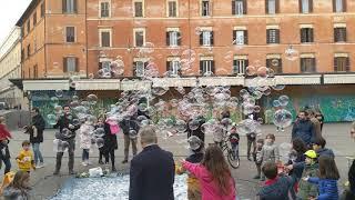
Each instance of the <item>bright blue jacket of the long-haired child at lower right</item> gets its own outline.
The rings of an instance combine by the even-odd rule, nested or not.
[[[308,182],[318,184],[320,196],[317,200],[338,200],[337,180],[312,177]]]

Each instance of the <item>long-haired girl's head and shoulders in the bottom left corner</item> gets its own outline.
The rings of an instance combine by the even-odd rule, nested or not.
[[[4,199],[30,199],[29,194],[30,174],[26,171],[18,171],[13,181],[3,190]]]

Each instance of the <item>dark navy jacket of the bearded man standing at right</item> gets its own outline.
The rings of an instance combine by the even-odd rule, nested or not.
[[[293,124],[292,139],[301,138],[306,144],[311,144],[315,138],[315,128],[310,120],[298,120]]]

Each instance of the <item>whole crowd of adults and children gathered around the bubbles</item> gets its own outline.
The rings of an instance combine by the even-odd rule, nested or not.
[[[0,117],[0,167],[4,163],[6,178],[12,176],[12,181],[3,188],[3,196],[8,199],[21,197],[29,199],[28,191],[31,170],[44,167],[44,160],[40,151],[43,142],[44,119],[39,109],[31,110],[32,122],[24,127],[29,140],[22,142],[22,149],[16,157],[18,172],[11,172],[9,142],[12,139],[7,130],[3,117]],[[104,116],[100,116],[97,122],[83,121],[75,123],[74,114],[68,106],[63,107],[63,114],[58,118],[53,128],[59,129],[55,138],[68,142],[69,154],[68,170],[74,174],[75,132],[79,133],[80,148],[82,149],[82,166],[89,162],[92,146],[91,133],[102,130],[102,146],[99,147],[99,163],[109,164],[112,171],[115,168],[115,154],[118,149],[116,134],[124,134],[124,158],[122,163],[129,162],[129,149],[132,146],[133,159],[130,162],[130,189],[132,200],[170,200],[174,199],[173,183],[175,173],[187,173],[189,200],[235,200],[237,197],[236,183],[232,171],[221,149],[221,141],[205,146],[202,124],[204,118],[200,118],[200,126],[195,130],[187,127],[187,142],[190,144],[189,157],[174,161],[173,153],[161,149],[158,144],[155,127],[144,126],[140,128],[136,122],[136,113],[130,119],[123,119],[119,123]],[[229,111],[221,114],[223,119],[230,118]],[[149,118],[149,116],[146,116]],[[348,187],[339,194],[337,181],[339,172],[335,162],[334,152],[326,148],[326,140],[322,136],[324,117],[313,110],[300,111],[292,128],[292,150],[290,160],[281,161],[276,137],[267,133],[265,139],[258,138],[255,132],[246,134],[246,158],[256,167],[254,179],[263,181],[257,193],[262,200],[354,200],[355,199],[355,161],[348,172]],[[69,131],[69,133],[68,133]],[[233,151],[237,151],[240,136],[235,124],[225,132],[229,136]],[[65,137],[63,137],[65,134]],[[355,123],[351,129],[351,136],[355,139]],[[138,142],[142,151],[138,152]],[[32,146],[32,151],[30,147]],[[252,148],[253,146],[253,148]],[[63,151],[57,152],[55,169],[53,174],[60,174]],[[239,153],[239,152],[237,152]],[[104,160],[103,160],[104,159]]]

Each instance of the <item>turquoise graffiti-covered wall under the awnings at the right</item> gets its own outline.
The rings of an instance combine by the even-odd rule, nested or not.
[[[264,118],[266,122],[272,122],[274,108],[273,100],[278,97],[265,98],[263,101]],[[297,111],[311,108],[320,110],[324,114],[325,122],[355,121],[355,94],[354,96],[325,96],[314,94],[308,97],[290,97],[287,110],[293,117]]]

